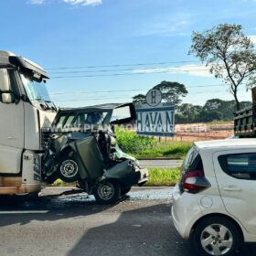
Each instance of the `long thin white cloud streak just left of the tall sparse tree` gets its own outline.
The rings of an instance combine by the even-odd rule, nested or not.
[[[202,65],[183,65],[179,67],[166,67],[159,69],[133,69],[135,74],[154,74],[154,73],[173,73],[173,74],[187,74],[197,77],[212,77],[209,73],[208,67]]]

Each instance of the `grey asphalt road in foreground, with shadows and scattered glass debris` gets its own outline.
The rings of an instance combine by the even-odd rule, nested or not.
[[[0,255],[194,255],[169,217],[170,189],[135,189],[119,204],[46,190],[36,201],[1,197]],[[248,246],[240,255],[255,255]]]

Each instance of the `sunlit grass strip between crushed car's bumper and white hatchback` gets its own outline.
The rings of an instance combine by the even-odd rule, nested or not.
[[[175,186],[180,177],[180,169],[170,168],[150,168],[149,180],[145,183],[146,187]]]

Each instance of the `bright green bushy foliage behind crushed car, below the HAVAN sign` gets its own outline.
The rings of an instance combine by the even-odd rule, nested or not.
[[[144,149],[152,148],[155,144],[154,138],[139,136],[132,131],[116,127],[117,143],[125,153],[137,154]]]

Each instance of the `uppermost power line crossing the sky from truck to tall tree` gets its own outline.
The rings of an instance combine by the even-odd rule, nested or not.
[[[166,64],[176,64],[176,63],[193,63],[193,62],[201,62],[201,61],[196,59],[196,60],[144,62],[144,63],[133,63],[133,64],[132,63],[130,63],[130,64],[113,64],[113,65],[99,65],[99,66],[74,66],[74,67],[47,68],[47,70],[119,68],[119,67],[147,66],[147,65],[166,65]]]

